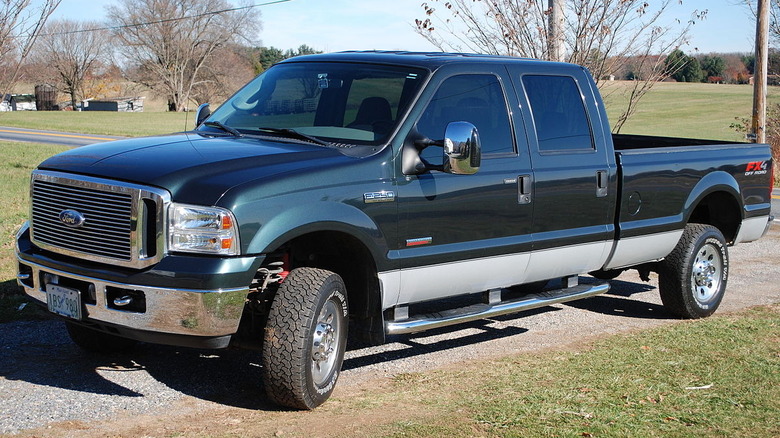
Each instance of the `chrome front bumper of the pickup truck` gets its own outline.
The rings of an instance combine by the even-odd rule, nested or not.
[[[46,303],[46,285],[42,273],[91,283],[96,289],[96,304],[84,304],[87,320],[158,333],[192,336],[226,336],[236,333],[249,287],[230,289],[173,289],[117,283],[52,269],[17,257],[19,263],[32,269],[33,287],[19,281],[25,293]],[[109,307],[107,288],[141,291],[146,312],[129,312]]]

